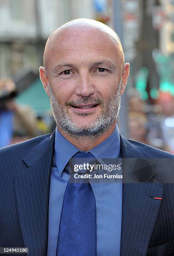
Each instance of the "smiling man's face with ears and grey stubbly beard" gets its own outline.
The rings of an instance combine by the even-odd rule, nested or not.
[[[115,42],[95,32],[74,30],[68,40],[63,33],[52,46],[47,73],[40,69],[58,128],[77,137],[100,136],[115,125],[128,78]]]

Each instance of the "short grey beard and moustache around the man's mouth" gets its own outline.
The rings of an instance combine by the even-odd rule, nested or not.
[[[117,120],[120,105],[121,105],[121,97],[120,97],[120,89],[121,82],[118,84],[118,90],[114,97],[112,97],[107,105],[104,105],[104,102],[98,97],[82,97],[79,100],[69,102],[66,104],[66,110],[62,108],[61,104],[56,100],[56,97],[49,86],[51,97],[51,109],[53,111],[54,120],[56,122],[57,127],[60,127],[62,131],[70,134],[75,138],[86,137],[89,139],[97,138],[102,135],[111,125]],[[73,120],[70,119],[68,114],[68,108],[70,105],[78,105],[78,104],[87,104],[87,103],[95,103],[100,104],[102,109],[102,113],[98,116],[93,123],[89,125],[79,126]],[[90,114],[80,114],[81,116],[87,116]]]

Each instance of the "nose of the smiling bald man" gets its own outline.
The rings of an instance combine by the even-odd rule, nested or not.
[[[89,97],[94,94],[94,83],[90,74],[81,74],[78,77],[76,86],[76,95],[81,95],[83,97]]]

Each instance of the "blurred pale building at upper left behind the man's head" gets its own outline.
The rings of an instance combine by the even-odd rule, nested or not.
[[[48,36],[82,17],[95,18],[92,0],[1,0],[0,77],[21,68],[38,72]]]

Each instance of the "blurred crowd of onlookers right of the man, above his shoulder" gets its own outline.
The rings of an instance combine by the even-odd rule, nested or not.
[[[174,154],[174,97],[159,92],[154,105],[141,100],[136,90],[128,94],[129,137]]]

